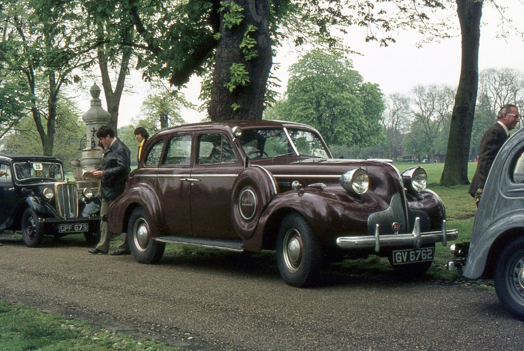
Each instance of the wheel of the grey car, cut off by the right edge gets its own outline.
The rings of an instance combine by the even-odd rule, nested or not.
[[[511,241],[500,253],[493,282],[500,303],[524,319],[524,237]]]

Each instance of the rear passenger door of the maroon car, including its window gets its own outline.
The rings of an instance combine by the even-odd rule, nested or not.
[[[158,165],[157,196],[166,235],[191,235],[191,138],[191,133],[171,134]]]

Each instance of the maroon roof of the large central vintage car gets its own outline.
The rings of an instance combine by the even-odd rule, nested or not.
[[[299,128],[314,130],[307,124],[288,122],[288,121],[277,121],[277,120],[226,120],[217,122],[200,122],[183,124],[181,126],[174,126],[158,131],[156,135],[168,134],[173,131],[194,131],[194,130],[231,130],[233,127],[240,127],[242,129],[257,129],[257,128]]]

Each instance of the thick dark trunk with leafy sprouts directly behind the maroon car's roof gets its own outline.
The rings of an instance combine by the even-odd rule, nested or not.
[[[212,121],[227,119],[260,120],[264,111],[264,96],[272,65],[271,40],[269,36],[268,0],[235,0],[244,10],[245,18],[231,29],[225,26],[221,14],[221,38],[216,48],[213,86],[208,112]],[[226,10],[227,11],[227,10]],[[246,60],[239,46],[248,26],[256,30],[251,37],[256,40],[256,58]],[[232,64],[243,64],[248,73],[246,85],[236,85],[230,92],[226,84],[231,82]]]

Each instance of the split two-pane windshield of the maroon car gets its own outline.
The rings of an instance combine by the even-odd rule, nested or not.
[[[297,152],[302,156],[329,157],[319,135],[299,129],[245,130],[240,144],[250,160],[296,155]]]

